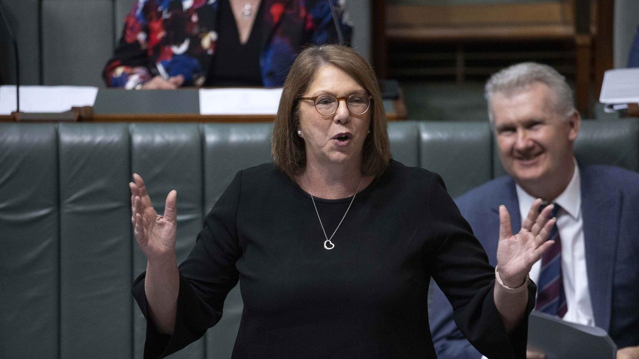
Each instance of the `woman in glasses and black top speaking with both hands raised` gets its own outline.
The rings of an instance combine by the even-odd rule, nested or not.
[[[373,70],[339,45],[293,63],[272,157],[236,174],[179,268],[177,194],[160,216],[134,175],[132,222],[148,260],[133,290],[148,323],[145,358],[201,337],[238,280],[234,358],[435,358],[431,278],[482,353],[523,358],[535,293],[527,273],[551,245],[551,206],[538,215],[535,201],[518,234],[500,208],[492,268],[442,179],[390,159]]]

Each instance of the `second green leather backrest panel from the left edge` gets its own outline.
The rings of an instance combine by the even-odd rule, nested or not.
[[[58,137],[61,357],[126,358],[132,345],[128,128],[63,123]]]

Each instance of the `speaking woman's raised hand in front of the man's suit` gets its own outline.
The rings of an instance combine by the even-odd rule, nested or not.
[[[497,265],[499,277],[505,286],[520,287],[528,271],[555,241],[548,241],[548,234],[557,218],[550,218],[553,205],[539,212],[541,199],[535,199],[517,234],[512,234],[511,216],[505,206],[499,207],[499,243]]]

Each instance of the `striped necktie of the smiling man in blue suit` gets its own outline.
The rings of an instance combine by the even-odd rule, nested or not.
[[[541,211],[543,207],[542,205],[539,210]],[[559,210],[560,206],[555,204],[552,217],[557,217]],[[555,240],[555,244],[546,250],[541,257],[541,271],[539,272],[537,283],[537,304],[535,309],[553,316],[564,317],[568,310],[568,305],[566,304],[564,281],[561,274],[561,240],[556,223],[548,235],[548,240]]]

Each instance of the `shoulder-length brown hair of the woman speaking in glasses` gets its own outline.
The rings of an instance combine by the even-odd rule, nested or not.
[[[390,161],[389,134],[386,113],[381,102],[380,86],[373,68],[355,50],[343,45],[321,45],[302,50],[284,82],[275,125],[271,155],[273,163],[289,176],[295,177],[304,171],[306,151],[304,140],[296,134],[299,122],[299,98],[314,80],[319,68],[333,65],[348,73],[362,86],[371,98],[370,134],[364,140],[362,151],[362,174],[379,176]]]

